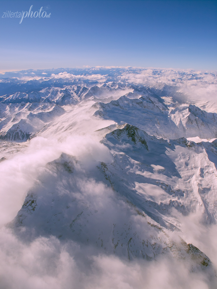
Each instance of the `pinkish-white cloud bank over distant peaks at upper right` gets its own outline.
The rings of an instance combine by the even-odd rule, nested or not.
[[[207,112],[217,112],[217,78],[216,71],[168,70],[159,69],[159,75],[152,74],[153,69],[141,71],[139,74],[125,74],[120,80],[129,84],[153,86],[159,90],[167,86],[168,96],[178,96],[187,103],[195,104]],[[184,73],[184,74],[183,74]]]

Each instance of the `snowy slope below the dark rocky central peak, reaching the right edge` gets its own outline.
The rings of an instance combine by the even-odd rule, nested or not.
[[[103,169],[114,188],[155,221],[181,229],[171,212],[186,215],[198,208],[209,223],[216,223],[216,141],[167,141],[127,124],[102,142],[115,158]]]

